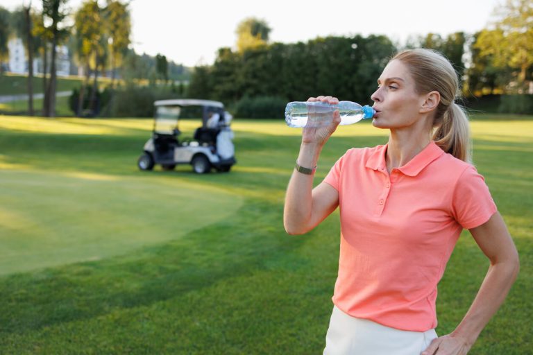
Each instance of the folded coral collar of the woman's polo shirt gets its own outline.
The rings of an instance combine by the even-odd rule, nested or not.
[[[387,164],[385,163],[385,153],[387,152],[388,144],[378,146],[375,152],[366,160],[366,167],[373,170],[385,171]],[[434,141],[425,146],[423,150],[418,153],[413,159],[409,160],[404,166],[398,168],[405,175],[416,176],[423,168],[428,166],[434,159],[437,159],[444,154],[444,150],[439,148]]]

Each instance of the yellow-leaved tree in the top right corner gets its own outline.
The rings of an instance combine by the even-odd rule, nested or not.
[[[496,67],[518,69],[518,93],[525,92],[527,72],[533,65],[533,0],[507,0],[499,8],[493,28],[483,30],[475,47],[491,56]]]

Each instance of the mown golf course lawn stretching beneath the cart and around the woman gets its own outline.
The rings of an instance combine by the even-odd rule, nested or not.
[[[238,164],[198,176],[137,171],[150,128],[0,116],[0,353],[321,354],[339,216],[306,236],[283,230],[299,130],[237,120]],[[181,129],[192,135],[193,121]],[[470,354],[528,354],[533,117],[477,116],[472,129],[521,274]],[[339,128],[316,182],[346,149],[386,140],[368,123]],[[439,284],[439,334],[466,313],[487,267],[465,233]]]

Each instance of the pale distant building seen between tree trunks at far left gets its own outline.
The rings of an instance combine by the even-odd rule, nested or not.
[[[20,38],[12,38],[8,42],[9,49],[9,69],[12,73],[28,73],[28,58],[26,58],[26,49]],[[52,53],[48,53],[48,65],[51,62]],[[50,70],[50,68],[48,68]],[[56,72],[58,76],[68,76],[70,74],[69,49],[67,46],[56,46]],[[44,65],[42,58],[39,56],[33,59],[33,73],[43,73]]]

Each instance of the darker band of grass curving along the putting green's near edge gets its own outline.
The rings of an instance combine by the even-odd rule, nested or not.
[[[287,264],[287,253],[302,241],[287,238],[281,213],[278,205],[248,201],[235,219],[171,243],[124,257],[2,277],[0,332],[24,334],[149,305],[246,275],[278,259],[285,259],[284,267],[300,268],[307,261]]]

